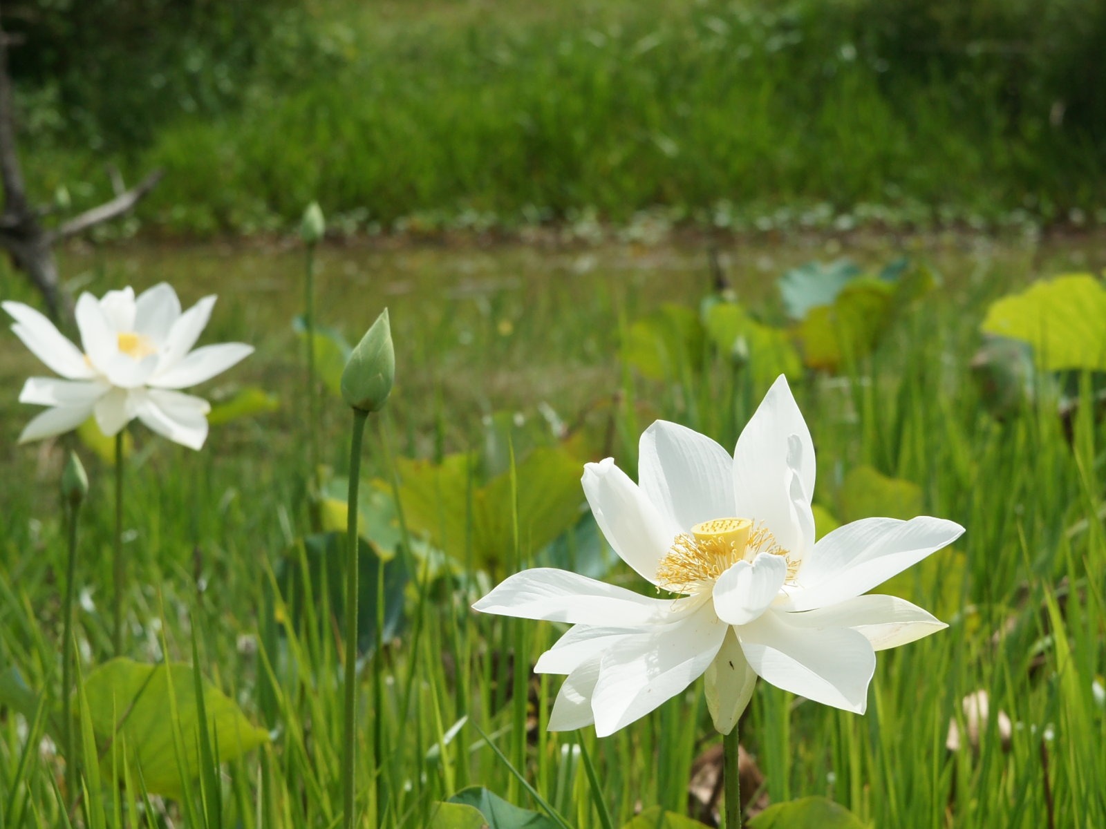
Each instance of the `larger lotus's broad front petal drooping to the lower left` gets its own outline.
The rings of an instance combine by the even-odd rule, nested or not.
[[[592,694],[595,733],[605,737],[684,691],[714,659],[728,627],[710,602],[675,625],[605,651]]]

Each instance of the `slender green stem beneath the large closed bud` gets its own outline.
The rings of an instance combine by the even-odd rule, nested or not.
[[[342,751],[343,826],[354,826],[354,734],[357,712],[357,484],[361,481],[361,447],[368,412],[353,410],[353,438],[349,442],[349,486],[346,516],[346,600],[345,600],[345,733]]]

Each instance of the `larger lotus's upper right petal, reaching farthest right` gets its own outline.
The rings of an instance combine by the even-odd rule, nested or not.
[[[910,521],[864,518],[821,538],[789,588],[789,610],[812,610],[867,592],[930,553],[956,541],[963,527],[922,515]]]

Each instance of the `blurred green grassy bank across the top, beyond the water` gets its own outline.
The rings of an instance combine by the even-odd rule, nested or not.
[[[101,74],[27,66],[24,147],[74,206],[107,161],[164,167],[140,214],[170,232],[286,230],[315,198],[338,232],[1106,208],[1094,0],[132,4],[188,36],[119,27]]]

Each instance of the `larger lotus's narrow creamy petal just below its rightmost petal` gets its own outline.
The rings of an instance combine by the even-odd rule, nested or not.
[[[906,599],[878,594],[857,596],[817,610],[789,613],[787,620],[813,628],[852,628],[863,633],[877,651],[897,648],[949,627]]]

